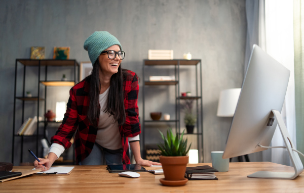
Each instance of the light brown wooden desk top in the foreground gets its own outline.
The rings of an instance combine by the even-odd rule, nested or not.
[[[210,163],[189,166],[211,165]],[[146,169],[160,169],[145,167]],[[16,170],[32,169],[16,166]],[[0,182],[0,192],[304,192],[304,174],[294,180],[248,178],[256,171],[292,172],[293,168],[270,162],[230,163],[229,172],[216,172],[218,180],[189,180],[184,186],[163,186],[164,175],[148,172],[139,178],[126,178],[111,174],[106,166],[75,166],[70,175],[33,175]]]

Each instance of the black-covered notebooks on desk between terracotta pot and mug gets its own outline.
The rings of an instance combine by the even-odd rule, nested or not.
[[[214,175],[214,172],[218,171],[207,165],[186,167],[185,177],[189,180],[217,179],[217,177]]]

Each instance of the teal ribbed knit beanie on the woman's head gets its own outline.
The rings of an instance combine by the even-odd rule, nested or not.
[[[88,51],[92,65],[96,62],[100,53],[112,45],[119,45],[121,51],[122,46],[118,39],[107,31],[95,31],[84,43],[84,49]]]

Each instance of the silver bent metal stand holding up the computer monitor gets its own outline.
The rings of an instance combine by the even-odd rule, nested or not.
[[[294,172],[269,172],[269,171],[259,171],[253,174],[248,175],[247,177],[252,178],[275,178],[275,179],[294,179],[303,171],[303,164],[299,158],[299,155],[292,150],[294,148],[294,144],[292,143],[288,130],[285,126],[285,123],[282,119],[282,116],[279,111],[272,110],[275,115],[278,125],[283,136],[284,142],[286,144],[286,149],[288,151],[290,160],[292,162]]]

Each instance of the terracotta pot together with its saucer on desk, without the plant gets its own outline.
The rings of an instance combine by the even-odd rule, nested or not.
[[[188,179],[185,178],[185,172],[189,156],[160,156],[165,178],[161,178],[160,182],[168,186],[184,185]]]

